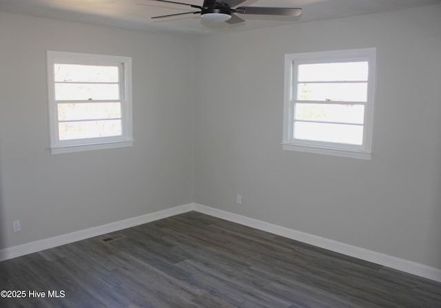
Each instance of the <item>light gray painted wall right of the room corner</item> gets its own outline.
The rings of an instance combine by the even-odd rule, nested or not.
[[[438,5],[198,41],[194,201],[441,268],[440,17]],[[368,47],[372,160],[283,151],[284,54]]]

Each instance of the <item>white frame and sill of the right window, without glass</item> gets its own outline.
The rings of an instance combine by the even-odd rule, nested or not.
[[[299,63],[334,63],[368,61],[367,101],[363,124],[362,145],[306,141],[294,138],[294,112],[296,108],[296,65]],[[285,54],[285,100],[283,110],[283,150],[328,154],[351,158],[371,159],[373,136],[373,106],[376,86],[376,48],[302,52]],[[314,101],[311,101],[314,103]]]

